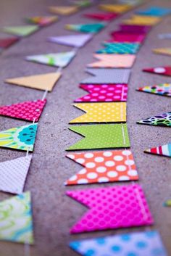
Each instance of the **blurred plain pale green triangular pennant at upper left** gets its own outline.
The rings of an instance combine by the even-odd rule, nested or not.
[[[38,30],[38,25],[23,25],[16,27],[4,27],[4,32],[15,36],[29,36]]]

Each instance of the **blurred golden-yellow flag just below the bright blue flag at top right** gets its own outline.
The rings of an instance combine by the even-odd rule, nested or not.
[[[144,18],[143,15],[133,15],[128,20],[122,20],[123,24],[128,25],[156,25],[159,23],[162,19],[160,17],[154,17],[154,16],[146,16]]]

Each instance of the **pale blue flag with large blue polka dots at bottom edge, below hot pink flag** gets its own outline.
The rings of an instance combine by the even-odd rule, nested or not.
[[[70,247],[83,256],[167,256],[157,231],[71,241]]]

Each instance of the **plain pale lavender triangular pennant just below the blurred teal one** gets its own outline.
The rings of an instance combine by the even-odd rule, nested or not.
[[[92,38],[91,34],[84,35],[70,35],[70,36],[51,36],[49,41],[63,44],[67,46],[82,47]]]

